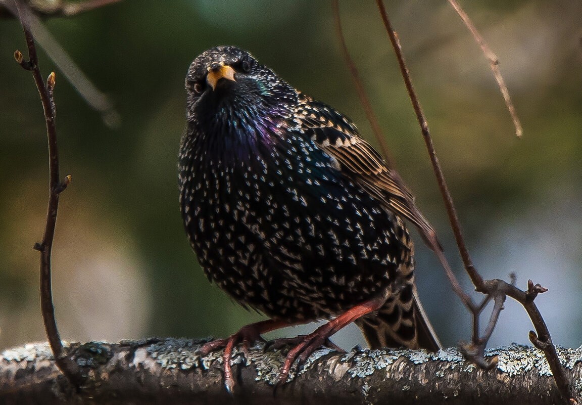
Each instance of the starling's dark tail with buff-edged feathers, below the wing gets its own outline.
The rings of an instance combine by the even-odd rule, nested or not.
[[[389,297],[378,311],[358,319],[356,325],[371,349],[406,347],[438,351],[441,348],[414,284]]]

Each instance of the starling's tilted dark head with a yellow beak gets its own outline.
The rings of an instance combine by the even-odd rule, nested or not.
[[[285,119],[297,102],[293,87],[237,47],[198,55],[188,69],[186,91],[189,123],[214,128]]]

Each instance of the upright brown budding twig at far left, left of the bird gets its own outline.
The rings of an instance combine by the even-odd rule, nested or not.
[[[42,242],[34,245],[34,249],[40,252],[40,300],[42,321],[48,341],[51,345],[55,362],[69,381],[80,382],[79,367],[69,357],[63,355],[63,346],[58,328],[56,327],[55,308],[52,304],[51,288],[51,250],[52,241],[55,235],[56,212],[59,206],[59,193],[70,183],[70,176],[61,182],[59,177],[59,155],[56,147],[55,128],[55,104],[52,98],[52,91],[55,86],[55,73],[52,72],[47,79],[47,83],[42,80],[40,68],[38,68],[38,58],[34,45],[33,34],[30,31],[27,9],[16,0],[16,7],[19,13],[20,22],[24,30],[24,37],[29,50],[29,60],[25,61],[20,51],[15,52],[16,61],[24,69],[33,73],[38,93],[42,101],[45,121],[47,125],[48,154],[49,154],[49,200],[47,208],[47,223],[45,225]]]

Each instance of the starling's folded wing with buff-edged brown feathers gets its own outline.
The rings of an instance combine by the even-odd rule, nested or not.
[[[436,233],[414,204],[414,197],[400,175],[359,135],[355,125],[326,104],[300,95],[297,115],[303,131],[338,161],[339,169],[391,212],[409,220],[431,249],[439,249]]]

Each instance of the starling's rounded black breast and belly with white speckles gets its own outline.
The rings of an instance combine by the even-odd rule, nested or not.
[[[402,220],[300,134],[239,161],[188,148],[184,225],[204,272],[240,304],[289,322],[326,318],[411,279]]]

